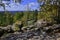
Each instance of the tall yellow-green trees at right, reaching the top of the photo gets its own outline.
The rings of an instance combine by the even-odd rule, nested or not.
[[[46,19],[48,21],[56,21],[57,23],[60,23],[60,6],[57,5],[57,2],[59,3],[59,0],[53,1],[53,4],[51,4],[51,0],[38,0],[38,2],[44,1],[44,4],[41,5],[40,11],[38,12],[38,19]]]

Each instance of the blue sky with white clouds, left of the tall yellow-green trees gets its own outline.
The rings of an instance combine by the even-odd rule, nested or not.
[[[4,1],[4,3],[6,3],[6,1]],[[10,2],[9,6],[5,5],[6,11],[27,11],[28,9],[39,10],[37,0],[22,0],[21,3]],[[0,6],[0,11],[4,11],[2,6]]]

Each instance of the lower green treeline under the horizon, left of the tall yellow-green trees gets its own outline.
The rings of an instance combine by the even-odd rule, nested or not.
[[[22,21],[24,25],[27,25],[29,20],[37,20],[37,11],[26,12],[0,12],[0,26],[12,25],[16,22]]]

